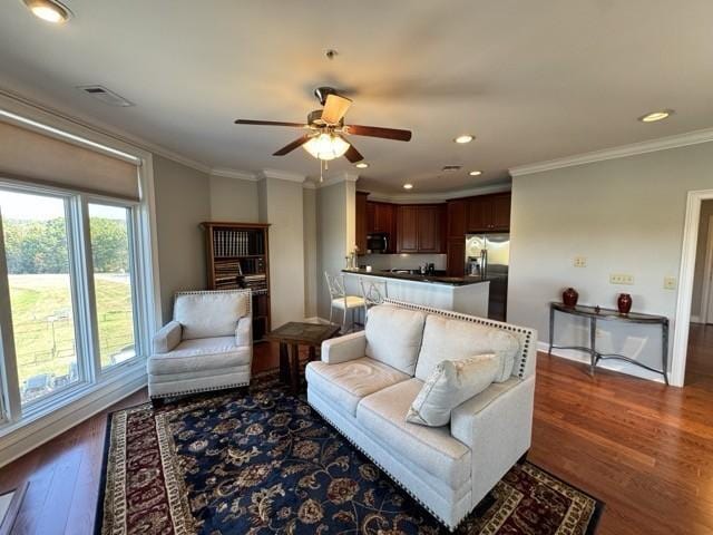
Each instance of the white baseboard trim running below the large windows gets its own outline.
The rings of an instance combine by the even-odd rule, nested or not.
[[[0,467],[12,463],[32,449],[107,409],[146,387],[145,363],[113,377],[86,396],[28,422],[18,422],[0,432]]]

